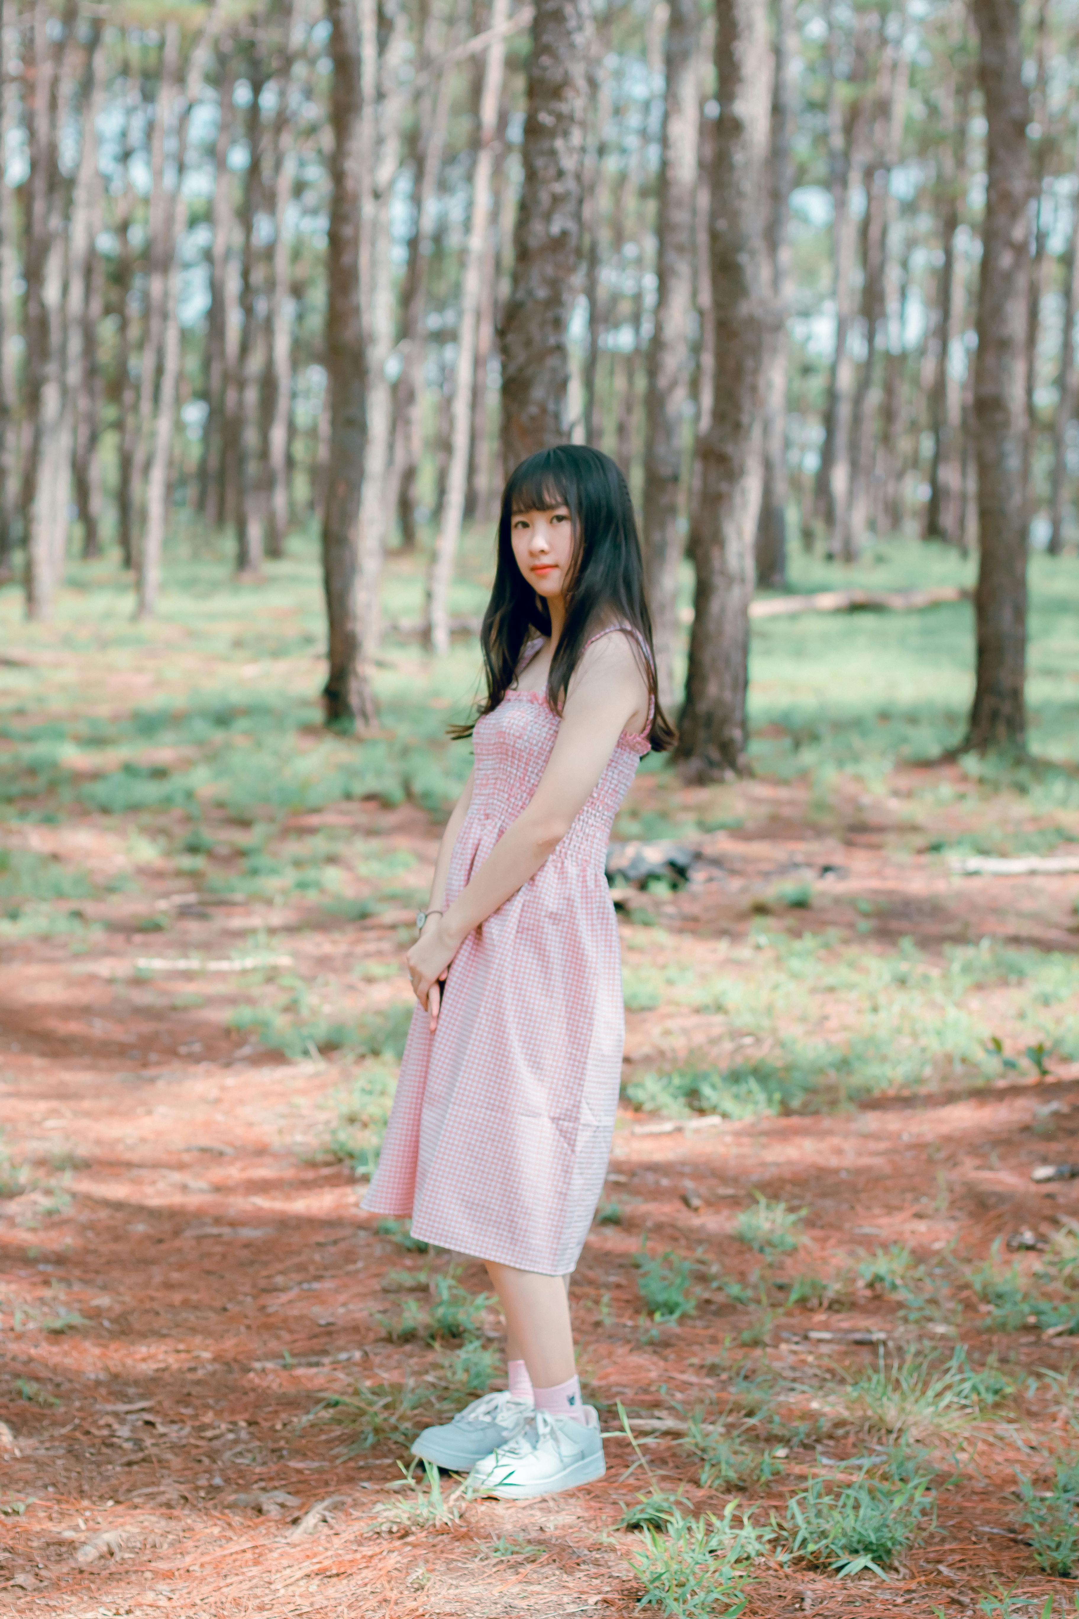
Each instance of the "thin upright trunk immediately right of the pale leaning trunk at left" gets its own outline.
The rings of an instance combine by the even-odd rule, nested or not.
[[[210,256],[210,316],[205,334],[205,402],[202,432],[202,468],[199,505],[210,528],[225,523],[225,382],[226,382],[226,317],[228,317],[228,248],[236,212],[233,176],[228,170],[228,147],[233,138],[233,89],[236,63],[231,50],[223,52],[220,86],[220,121],[214,154],[214,249]]]

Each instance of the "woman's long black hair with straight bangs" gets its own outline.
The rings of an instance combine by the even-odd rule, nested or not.
[[[644,599],[644,560],[633,515],[633,500],[621,471],[602,450],[582,444],[560,444],[529,455],[510,474],[498,518],[498,559],[480,646],[487,698],[476,719],[498,708],[513,685],[529,631],[550,635],[550,612],[518,567],[513,555],[514,512],[553,512],[569,507],[573,555],[563,588],[566,617],[547,677],[547,701],[560,714],[584,644],[605,623],[636,630],[647,648],[633,638],[641,672],[654,703],[649,740],[657,753],[676,742],[658,703],[652,620]],[[451,735],[469,737],[472,724],[455,725]]]

